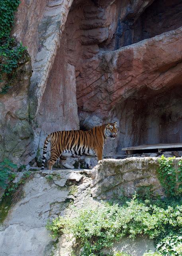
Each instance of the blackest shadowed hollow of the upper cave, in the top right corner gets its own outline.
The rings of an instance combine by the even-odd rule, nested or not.
[[[133,43],[182,26],[182,0],[155,0],[133,25]]]

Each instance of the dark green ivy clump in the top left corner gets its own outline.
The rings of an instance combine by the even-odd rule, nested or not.
[[[0,39],[9,36],[20,0],[0,0]]]

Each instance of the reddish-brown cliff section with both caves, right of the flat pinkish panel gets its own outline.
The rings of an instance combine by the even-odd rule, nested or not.
[[[120,126],[115,152],[109,141],[105,156],[122,146],[181,141],[181,13],[179,0],[72,5],[65,30],[80,126]]]

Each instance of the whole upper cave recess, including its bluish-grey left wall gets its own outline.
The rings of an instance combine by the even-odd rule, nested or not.
[[[145,7],[131,1],[126,8],[126,2],[116,0],[115,31],[111,38],[99,44],[100,48],[117,50],[182,26],[182,0],[148,2]]]

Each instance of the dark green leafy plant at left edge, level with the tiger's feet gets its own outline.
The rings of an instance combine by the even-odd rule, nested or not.
[[[8,176],[13,169],[16,169],[17,165],[13,164],[5,158],[3,162],[0,163],[0,187],[6,188],[6,181],[8,180]]]

